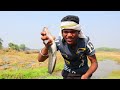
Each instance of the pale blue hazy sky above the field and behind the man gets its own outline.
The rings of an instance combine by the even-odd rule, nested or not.
[[[120,11],[0,11],[0,38],[8,43],[40,49],[43,27],[56,38],[64,16],[77,15],[85,35],[95,48],[120,48]]]

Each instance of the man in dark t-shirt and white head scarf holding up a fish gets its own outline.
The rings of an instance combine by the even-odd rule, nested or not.
[[[41,35],[43,41],[49,40],[44,31]],[[39,62],[48,58],[49,45],[52,45],[50,40],[39,53]],[[62,70],[63,79],[89,79],[98,68],[95,48],[89,37],[81,31],[78,16],[67,15],[61,20],[61,30],[56,39],[56,46],[65,61]],[[88,66],[88,60],[91,62],[90,66]]]

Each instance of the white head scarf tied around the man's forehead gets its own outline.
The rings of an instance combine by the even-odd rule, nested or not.
[[[79,33],[79,38],[86,38],[86,36],[84,35],[83,31],[81,31],[81,26],[80,26],[80,24],[77,24],[77,23],[74,22],[74,21],[63,21],[63,22],[61,22],[60,32],[59,32],[59,36],[61,37],[61,39],[63,38],[63,37],[62,37],[62,30],[63,30],[63,29],[78,30],[78,31],[80,31],[80,33]]]

